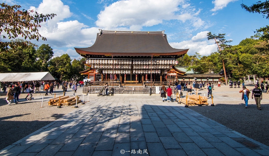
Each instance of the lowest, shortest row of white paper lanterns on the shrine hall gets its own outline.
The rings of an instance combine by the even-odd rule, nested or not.
[[[160,74],[161,73],[161,70],[133,70],[133,74],[150,74],[150,73],[153,73],[153,74]],[[131,74],[131,70],[103,70],[103,74]]]

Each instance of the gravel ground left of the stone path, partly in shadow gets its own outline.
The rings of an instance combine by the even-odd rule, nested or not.
[[[5,96],[0,96],[0,150],[23,137],[48,125],[52,121],[71,112],[73,106],[64,106],[61,109],[56,106],[48,106],[48,102],[19,100],[19,104],[7,105]],[[37,95],[33,94],[33,97]],[[26,94],[21,94],[19,98],[25,98]],[[49,96],[46,96],[49,97]],[[51,95],[51,97],[54,97]],[[45,98],[45,97],[44,97]],[[78,104],[81,106],[81,103]]]

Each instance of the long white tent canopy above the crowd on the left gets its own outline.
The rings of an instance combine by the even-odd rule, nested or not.
[[[0,81],[36,81],[36,80],[55,80],[49,72],[36,73],[0,73]]]

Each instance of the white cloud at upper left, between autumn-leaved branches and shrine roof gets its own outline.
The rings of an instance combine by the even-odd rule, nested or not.
[[[57,14],[46,23],[41,23],[41,28],[38,29],[38,32],[47,38],[47,41],[40,40],[39,42],[50,46],[69,48],[91,46],[95,42],[96,34],[99,32],[98,28],[89,28],[77,20],[62,21],[73,15],[69,10],[69,6],[64,5],[62,1],[43,0],[38,8],[31,6],[30,9],[43,14]]]

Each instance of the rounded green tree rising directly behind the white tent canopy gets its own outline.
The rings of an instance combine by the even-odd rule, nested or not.
[[[48,68],[48,61],[53,57],[53,49],[48,44],[42,44],[38,47],[37,54],[37,66],[41,72],[46,71]]]

